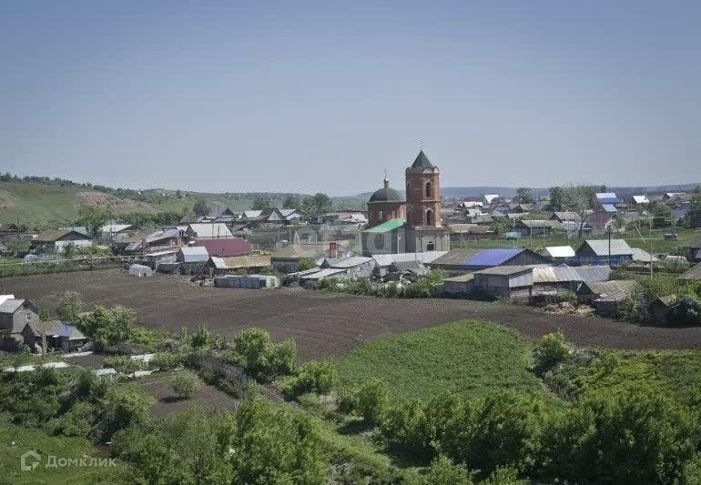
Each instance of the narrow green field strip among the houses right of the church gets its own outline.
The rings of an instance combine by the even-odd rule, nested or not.
[[[613,238],[623,238],[631,248],[641,248],[645,251],[650,251],[650,243],[652,243],[653,252],[668,253],[672,248],[684,246],[685,242],[701,238],[701,228],[679,227],[676,232],[679,238],[676,241],[665,240],[665,233],[669,232],[669,227],[664,229],[642,230],[643,240],[635,230],[625,231],[620,234],[614,234]],[[589,239],[604,239],[605,236],[586,237]],[[509,241],[506,239],[476,239],[452,242],[453,248],[529,248],[533,250],[542,249],[548,246],[572,246],[578,248],[583,238],[577,237],[521,237],[519,239]]]

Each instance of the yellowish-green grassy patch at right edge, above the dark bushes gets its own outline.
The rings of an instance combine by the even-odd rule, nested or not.
[[[648,387],[697,408],[701,403],[701,352],[600,350],[584,365],[566,365],[554,381],[573,396]]]

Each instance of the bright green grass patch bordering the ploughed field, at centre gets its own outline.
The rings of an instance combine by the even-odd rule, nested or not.
[[[467,397],[495,389],[540,392],[529,369],[531,351],[511,329],[461,320],[372,341],[336,364],[343,385],[379,378],[395,399],[429,399],[443,391]]]

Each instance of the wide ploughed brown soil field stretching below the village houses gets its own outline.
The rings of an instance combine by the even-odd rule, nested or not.
[[[461,318],[478,318],[540,338],[562,328],[583,347],[698,349],[701,328],[638,327],[608,318],[550,315],[537,308],[462,299],[355,297],[301,289],[199,288],[187,279],[129,277],[118,270],[2,278],[0,294],[55,308],[66,289],[89,304],[136,308],[153,328],[207,324],[226,338],[245,327],[268,328],[275,339],[295,338],[300,359],[336,356],[363,342]]]

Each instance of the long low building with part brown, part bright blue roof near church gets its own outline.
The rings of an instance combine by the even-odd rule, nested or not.
[[[449,275],[463,275],[472,271],[502,266],[549,265],[552,261],[527,248],[455,248],[431,263]]]

